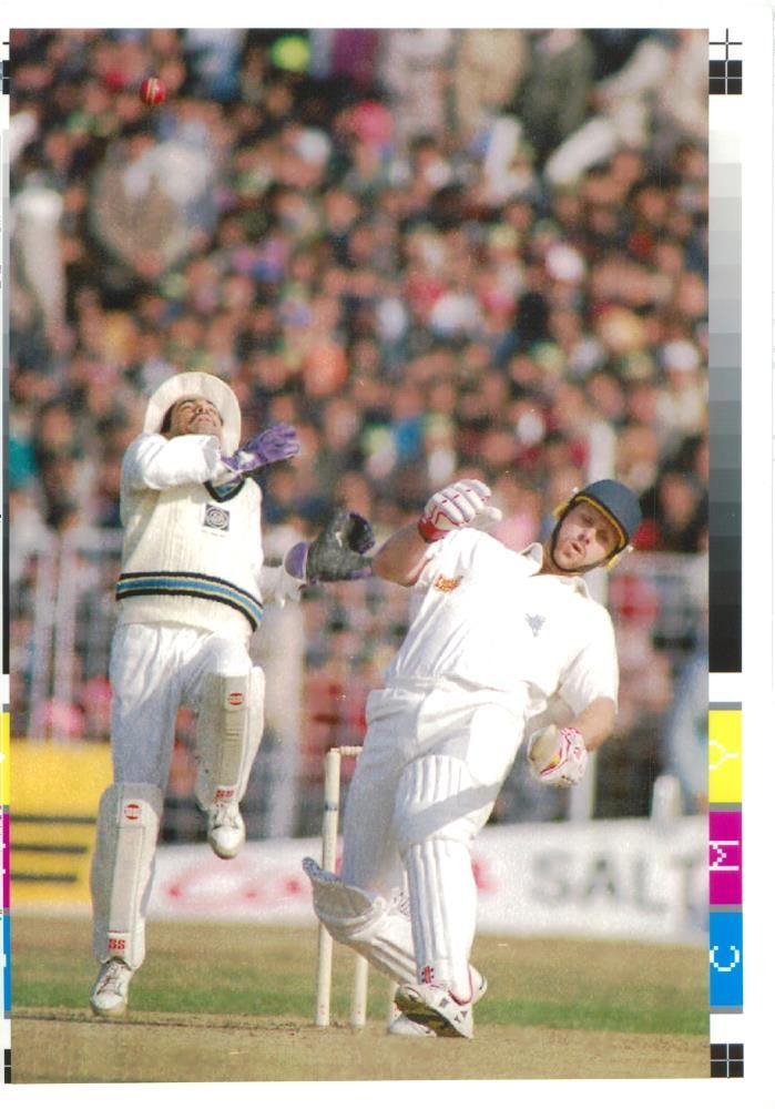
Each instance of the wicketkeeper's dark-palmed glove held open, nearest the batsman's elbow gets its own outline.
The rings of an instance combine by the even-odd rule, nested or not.
[[[316,581],[353,581],[371,574],[374,547],[368,520],[357,512],[337,508],[310,543],[296,543],[285,556],[285,569],[309,584]]]

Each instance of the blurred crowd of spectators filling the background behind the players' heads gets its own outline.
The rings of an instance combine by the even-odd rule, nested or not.
[[[47,539],[118,527],[182,369],[228,380],[246,434],[298,430],[261,479],[269,553],[335,502],[385,535],[461,472],[520,548],[595,449],[641,550],[706,549],[704,33],[14,30],[10,57],[22,592]],[[313,685],[373,682],[353,607],[307,609]]]

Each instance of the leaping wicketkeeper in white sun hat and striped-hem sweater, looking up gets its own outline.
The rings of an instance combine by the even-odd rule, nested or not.
[[[196,800],[221,858],[245,842],[239,802],[264,728],[264,674],[249,642],[264,602],[312,581],[368,572],[368,523],[337,509],[312,543],[264,564],[262,492],[251,477],[293,458],[276,425],[242,446],[237,398],[220,378],[181,373],[151,396],[122,462],[122,572],[111,648],[113,783],[100,800],[92,863],[92,1010],[119,1017],[145,957],[145,914],[181,704],[196,713]]]

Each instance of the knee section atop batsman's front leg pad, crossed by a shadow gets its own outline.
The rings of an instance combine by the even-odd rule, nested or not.
[[[462,759],[426,755],[409,763],[394,808],[399,852],[431,838],[469,843],[487,823],[498,788],[477,782]]]

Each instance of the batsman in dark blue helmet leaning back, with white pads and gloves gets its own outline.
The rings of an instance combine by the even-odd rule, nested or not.
[[[572,786],[615,719],[613,625],[584,574],[630,549],[638,499],[593,481],[519,553],[483,530],[500,516],[489,500],[483,482],[456,481],[375,554],[374,573],[419,607],[367,701],[340,876],[304,861],[334,939],[398,984],[396,1035],[473,1036],[487,981],[470,965],[471,844],[523,739],[540,782]]]

